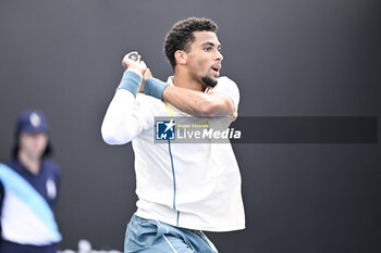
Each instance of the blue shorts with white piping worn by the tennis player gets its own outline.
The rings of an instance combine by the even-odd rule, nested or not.
[[[125,253],[217,253],[202,231],[177,228],[134,215],[124,239]]]

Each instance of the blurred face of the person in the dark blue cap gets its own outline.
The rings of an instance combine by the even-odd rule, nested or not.
[[[40,159],[48,144],[48,136],[44,132],[20,135],[20,151],[30,159]]]

